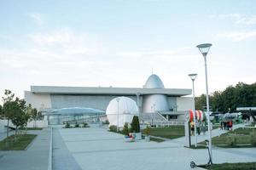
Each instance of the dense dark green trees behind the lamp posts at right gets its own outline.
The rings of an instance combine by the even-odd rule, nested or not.
[[[212,111],[233,112],[236,107],[253,107],[256,105],[256,82],[246,84],[238,82],[235,87],[229,86],[223,92],[216,91],[209,96]],[[195,98],[195,108],[202,110],[206,106],[206,95]]]

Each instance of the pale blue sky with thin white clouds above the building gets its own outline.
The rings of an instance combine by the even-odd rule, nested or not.
[[[0,95],[31,85],[209,92],[256,82],[254,0],[0,0]]]

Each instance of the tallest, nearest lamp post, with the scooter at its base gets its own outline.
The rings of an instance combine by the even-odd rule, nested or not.
[[[211,156],[211,160],[212,160],[212,129],[211,129],[211,122],[210,122],[208,80],[207,80],[207,54],[208,54],[211,46],[212,46],[211,43],[203,43],[203,44],[197,45],[196,47],[199,48],[201,54],[203,55],[203,57],[205,59],[206,88],[207,88],[207,119],[208,119],[207,122],[208,122],[208,133],[209,133],[209,150],[210,150],[210,156]]]

